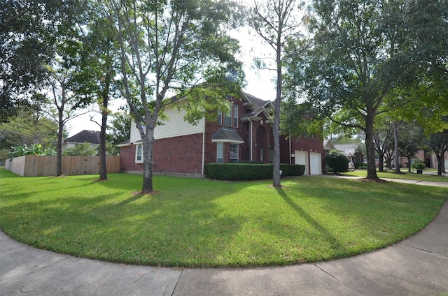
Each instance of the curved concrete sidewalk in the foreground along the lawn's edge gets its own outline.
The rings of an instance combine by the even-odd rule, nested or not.
[[[0,232],[0,295],[440,295],[448,202],[414,237],[360,256],[288,267],[171,269],[75,258]],[[444,294],[443,294],[444,295]]]

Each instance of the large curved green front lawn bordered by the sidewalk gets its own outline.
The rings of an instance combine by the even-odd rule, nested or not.
[[[414,235],[446,188],[324,177],[218,182],[141,175],[18,177],[0,168],[0,228],[38,248],[170,267],[290,265],[354,256]]]

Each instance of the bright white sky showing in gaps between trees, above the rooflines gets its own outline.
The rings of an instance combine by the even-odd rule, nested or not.
[[[266,101],[274,101],[276,89],[273,79],[276,73],[269,70],[258,70],[253,67],[253,59],[255,57],[265,56],[266,54],[274,56],[274,50],[268,45],[263,45],[257,36],[249,34],[249,30],[246,27],[239,29],[239,31],[232,31],[230,34],[232,37],[237,38],[241,45],[241,53],[238,58],[243,62],[246,74],[246,87],[243,88],[243,91]],[[124,100],[111,101],[109,109],[115,112],[125,103]],[[99,125],[91,121],[90,117],[93,117],[93,120],[97,122],[101,122],[99,112],[89,112],[75,117],[66,123],[69,136],[76,135],[76,133],[83,130],[99,131]]]

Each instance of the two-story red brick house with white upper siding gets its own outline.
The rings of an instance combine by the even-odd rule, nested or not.
[[[153,171],[167,175],[202,177],[207,163],[238,161],[272,162],[274,140],[268,119],[270,101],[241,91],[241,98],[229,97],[230,112],[220,112],[214,121],[201,119],[189,124],[177,101],[165,108],[167,121],[156,126]],[[302,164],[306,175],[322,173],[325,151],[318,137],[280,140],[281,163]],[[121,165],[127,172],[143,171],[143,145],[134,121],[130,140],[118,145]]]

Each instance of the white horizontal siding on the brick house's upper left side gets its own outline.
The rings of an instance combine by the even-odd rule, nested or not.
[[[183,109],[179,112],[179,110],[175,107],[165,110],[165,113],[167,113],[168,120],[162,121],[164,123],[163,125],[155,127],[154,138],[156,140],[204,132],[205,119],[201,119],[196,125],[193,125],[183,120],[183,116],[186,114],[186,111]],[[132,121],[131,142],[139,142],[140,140],[139,130],[137,130],[134,121]]]

